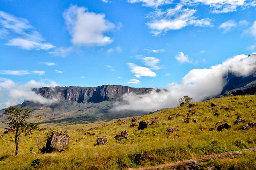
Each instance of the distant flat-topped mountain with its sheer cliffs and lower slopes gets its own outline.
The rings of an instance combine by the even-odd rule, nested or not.
[[[32,90],[44,98],[56,98],[58,102],[40,104],[25,100],[21,106],[34,110],[35,116],[43,115],[43,123],[66,125],[146,114],[148,112],[130,110],[117,112],[110,109],[116,101],[122,101],[122,96],[126,93],[146,94],[155,89],[103,85],[98,87],[42,87]],[[1,113],[0,115],[2,116]],[[0,122],[4,120],[1,116]]]

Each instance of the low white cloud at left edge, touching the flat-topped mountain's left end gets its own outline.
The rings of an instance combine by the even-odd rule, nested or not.
[[[0,109],[20,104],[24,100],[30,100],[42,104],[57,102],[58,99],[56,98],[46,99],[32,91],[32,88],[54,86],[58,86],[54,81],[45,83],[44,81],[30,80],[25,84],[19,84],[9,79],[0,79]]]

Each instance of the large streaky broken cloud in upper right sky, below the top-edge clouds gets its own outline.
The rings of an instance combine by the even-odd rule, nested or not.
[[[196,9],[183,8],[183,5],[178,4],[175,8],[153,12],[149,17],[154,19],[147,25],[154,35],[166,33],[169,30],[179,30],[190,25],[200,27],[213,26],[209,18],[197,19],[196,12]]]

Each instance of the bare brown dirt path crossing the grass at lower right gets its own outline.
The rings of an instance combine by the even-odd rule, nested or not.
[[[203,157],[200,157],[198,159],[191,159],[191,160],[184,160],[184,161],[179,161],[179,162],[173,162],[169,164],[164,164],[164,165],[158,165],[154,167],[147,167],[147,168],[128,168],[127,170],[159,170],[161,168],[167,168],[167,169],[183,169],[183,170],[188,170],[188,169],[196,169],[198,167],[198,164],[202,162],[206,162],[212,159],[225,159],[225,158],[237,158],[243,151],[256,151],[256,147],[252,147],[249,149],[242,149],[239,151],[234,151],[234,152],[226,152],[222,154],[213,154],[213,155],[206,155]]]

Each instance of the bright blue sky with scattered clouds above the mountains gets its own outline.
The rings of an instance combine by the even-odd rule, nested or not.
[[[0,0],[0,80],[165,88],[255,52],[255,9],[254,0]]]

